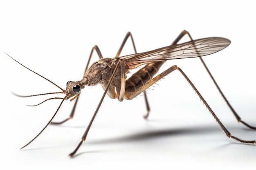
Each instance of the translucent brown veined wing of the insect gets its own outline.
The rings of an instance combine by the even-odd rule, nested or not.
[[[128,66],[132,66],[136,64],[141,65],[142,63],[145,64],[146,62],[202,57],[225,49],[230,43],[230,40],[226,38],[202,38],[182,44],[166,46],[145,53],[126,55],[120,58],[126,60]]]

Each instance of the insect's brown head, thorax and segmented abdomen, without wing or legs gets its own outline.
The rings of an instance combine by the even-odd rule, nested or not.
[[[70,82],[66,88],[66,94],[70,94],[68,98],[76,95],[73,91],[75,85],[79,85],[81,89],[85,86],[95,86],[101,84],[104,89],[106,89],[109,80],[112,76],[112,72],[117,66],[118,61],[121,60],[117,57],[115,58],[102,58],[97,62],[94,62],[90,68],[85,71],[83,79],[76,82]],[[159,71],[159,68],[164,64],[165,61],[161,62],[152,62],[146,64],[143,68],[139,69],[136,73],[131,75],[129,79],[126,80],[125,88],[125,99],[129,99],[127,96],[131,93],[134,93],[136,89],[146,84],[153,76]],[[128,73],[130,68],[126,64],[126,73]],[[121,88],[121,70],[117,69],[117,72],[111,82],[111,87],[108,90],[108,95],[112,99],[117,98],[117,93],[120,92]],[[116,91],[115,91],[116,90]]]

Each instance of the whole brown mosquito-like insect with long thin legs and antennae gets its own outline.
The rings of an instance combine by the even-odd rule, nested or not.
[[[184,37],[184,35],[188,35],[190,40],[189,42],[185,42],[182,44],[178,44],[178,42]],[[119,57],[127,39],[130,37],[132,40],[132,45],[134,48],[135,53],[132,55],[126,55],[123,57]],[[44,94],[38,94],[38,95],[48,95],[48,94],[57,94],[57,93],[63,93],[65,96],[63,98],[60,97],[54,97],[46,99],[43,102],[46,102],[51,99],[62,99],[61,103],[59,104],[56,112],[52,116],[52,118],[49,120],[49,122],[46,124],[46,126],[22,148],[25,148],[29,144],[31,144],[32,141],[34,141],[42,132],[47,128],[49,124],[63,124],[64,122],[68,121],[69,119],[72,119],[74,117],[76,104],[79,99],[79,95],[81,93],[81,90],[85,88],[85,86],[95,86],[97,84],[101,84],[101,86],[104,89],[104,93],[101,97],[101,100],[92,116],[92,119],[90,120],[90,123],[88,127],[86,128],[85,132],[83,133],[83,136],[81,138],[81,141],[79,142],[78,146],[75,148],[75,150],[69,154],[70,157],[74,157],[77,150],[79,150],[81,144],[85,141],[88,132],[92,126],[92,122],[94,121],[94,118],[96,117],[98,110],[103,102],[104,97],[106,94],[112,98],[112,99],[118,99],[120,102],[124,99],[133,99],[137,95],[144,93],[144,98],[146,102],[146,108],[147,108],[147,114],[144,116],[146,119],[150,113],[150,107],[148,104],[148,99],[146,95],[146,89],[148,89],[150,86],[155,84],[158,80],[162,79],[164,76],[168,75],[169,73],[178,70],[184,78],[189,82],[189,84],[192,86],[193,90],[197,93],[197,95],[200,97],[204,105],[207,107],[209,112],[213,115],[214,119],[218,122],[222,130],[225,132],[227,137],[232,138],[236,141],[239,141],[241,143],[245,144],[256,144],[256,141],[249,141],[249,140],[243,140],[238,137],[235,137],[231,135],[231,133],[225,128],[225,126],[221,123],[220,119],[216,116],[216,114],[213,112],[213,110],[210,108],[210,106],[207,104],[207,102],[204,100],[202,95],[199,93],[197,88],[195,88],[194,84],[191,82],[191,80],[186,76],[186,74],[182,71],[181,68],[174,65],[168,68],[167,70],[163,71],[162,73],[159,73],[155,76],[155,74],[159,71],[159,68],[166,62],[166,60],[173,60],[173,59],[181,59],[181,58],[192,58],[192,57],[199,57],[202,64],[206,68],[207,72],[209,73],[211,79],[213,80],[214,84],[218,88],[218,91],[224,98],[225,102],[233,112],[234,116],[236,117],[238,122],[241,122],[245,126],[256,129],[254,126],[250,126],[249,124],[245,123],[241,120],[241,118],[238,116],[236,111],[232,108],[232,106],[227,101],[226,97],[220,90],[220,87],[216,83],[215,79],[211,75],[209,69],[207,68],[206,64],[202,60],[202,56],[204,55],[210,55],[213,53],[216,53],[222,49],[225,49],[229,44],[231,43],[230,40],[226,38],[219,38],[219,37],[212,37],[212,38],[202,38],[198,40],[193,40],[191,35],[188,31],[184,30],[180,33],[180,35],[173,41],[173,43],[170,46],[166,46],[163,48],[155,49],[153,51],[148,51],[144,53],[137,53],[135,48],[135,43],[132,38],[132,34],[128,32],[117,52],[117,55],[113,58],[103,58],[101,55],[101,52],[99,50],[99,47],[95,45],[92,48],[92,51],[90,53],[90,57],[88,60],[88,63],[85,67],[85,72],[83,75],[83,78],[79,81],[73,82],[68,81],[66,89],[63,89],[56,85],[54,82],[50,81],[49,79],[43,77],[42,75],[32,71],[31,69],[27,68],[26,66],[22,65],[20,62],[18,62],[23,67],[27,68],[29,71],[32,71],[33,73],[39,75],[40,77],[43,77],[50,83],[57,86],[59,89],[61,89],[61,92],[54,92],[54,93],[44,93]],[[93,52],[96,51],[99,60],[97,62],[94,62],[90,67],[90,60],[92,58]],[[126,74],[129,73],[130,70],[138,68],[139,66],[144,66],[140,68],[137,72],[135,72],[133,75],[131,75],[128,79],[126,79]],[[21,96],[19,97],[32,97],[32,96],[38,96],[38,95],[29,95],[29,96]],[[67,119],[64,119],[60,122],[54,122],[52,121],[57,114],[59,108],[63,104],[63,102],[67,99],[70,99],[70,101],[73,101],[74,99],[74,106],[72,108],[72,112],[70,113],[70,116]],[[42,104],[41,102],[40,104]],[[39,104],[37,104],[39,105]],[[37,106],[34,105],[34,106]],[[20,148],[20,149],[22,149]]]

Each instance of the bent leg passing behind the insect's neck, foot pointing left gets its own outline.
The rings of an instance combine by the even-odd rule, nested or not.
[[[98,47],[97,45],[95,45],[95,46],[92,48],[92,51],[91,51],[91,53],[90,53],[90,57],[89,57],[89,59],[88,59],[88,62],[87,62],[87,64],[86,64],[86,67],[85,67],[85,71],[87,71],[87,69],[88,69],[88,67],[89,67],[89,64],[90,64],[90,61],[91,61],[92,54],[93,54],[93,51],[94,51],[94,50],[95,50],[95,51],[97,52],[97,54],[99,55],[99,58],[100,58],[100,59],[103,58],[102,55],[101,55],[101,51],[99,50],[99,47]],[[77,104],[77,102],[78,102],[78,99],[79,99],[79,97],[77,97],[76,102],[74,103],[74,106],[73,106],[72,111],[71,111],[71,113],[70,113],[70,116],[69,116],[67,119],[65,119],[65,120],[63,120],[63,121],[60,121],[60,122],[51,122],[51,124],[53,124],[53,125],[63,124],[64,122],[68,121],[69,119],[72,119],[73,116],[74,116],[75,110],[76,110],[76,104]]]

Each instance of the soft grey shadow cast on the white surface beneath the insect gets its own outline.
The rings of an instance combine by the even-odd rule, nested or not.
[[[239,137],[241,133],[243,134],[244,128],[240,128],[237,126],[229,126],[228,128],[231,132],[237,132],[235,136]],[[252,131],[252,130],[249,130]],[[247,133],[248,131],[246,131]],[[253,134],[255,131],[252,131]],[[249,135],[249,133],[248,133]],[[221,143],[222,145],[218,146],[218,148],[214,147],[212,148],[213,150],[219,150],[219,149],[224,149],[227,148],[227,146],[233,146],[232,144],[238,144],[238,145],[243,145],[237,141],[234,141],[232,139],[228,139],[226,137],[225,133],[222,131],[222,129],[216,125],[212,126],[193,126],[193,127],[186,127],[186,128],[169,128],[169,129],[158,129],[158,130],[144,130],[144,131],[136,131],[136,132],[130,132],[130,133],[125,133],[122,136],[116,136],[116,137],[99,137],[99,139],[93,139],[93,140],[88,140],[85,143],[89,145],[110,145],[110,144],[125,144],[125,143],[148,143],[148,142],[155,142],[157,140],[165,140],[164,138],[170,139],[170,142],[172,140],[176,140],[175,142],[179,142],[177,140],[182,140],[182,141],[187,141],[189,138],[195,137],[195,138],[203,138],[207,137],[207,140],[211,140],[211,136],[214,136],[212,139],[216,140],[216,136],[218,139],[224,141],[225,144]],[[194,139],[195,139],[194,138]],[[229,140],[229,142],[225,142]],[[196,142],[196,141],[193,141]],[[83,144],[86,145],[86,144]],[[143,144],[144,145],[144,144]],[[150,144],[151,145],[151,144]],[[245,144],[247,145],[247,144]],[[253,146],[253,145],[250,145]],[[59,148],[62,148],[63,146],[58,146]],[[253,146],[255,147],[255,146]],[[42,148],[31,148],[31,149],[22,149],[24,151],[29,151],[29,150],[40,150],[40,149],[49,149],[49,148],[56,148],[56,146],[52,147],[42,147]],[[72,150],[70,150],[72,151]],[[87,154],[87,153],[98,153],[98,152],[108,152],[107,150],[91,150],[91,151],[85,151],[85,152],[80,152],[82,150],[79,150],[77,154],[74,157],[79,157],[81,155]],[[209,150],[207,150],[209,151]]]

